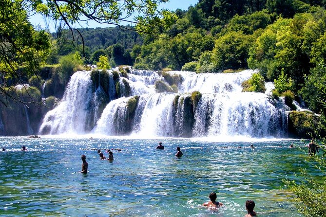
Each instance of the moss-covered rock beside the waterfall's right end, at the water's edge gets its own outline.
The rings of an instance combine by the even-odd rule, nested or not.
[[[288,114],[288,133],[290,137],[310,138],[313,128],[318,127],[318,116],[308,111],[290,111]]]

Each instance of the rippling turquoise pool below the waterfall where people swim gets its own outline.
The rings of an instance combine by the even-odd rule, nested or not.
[[[165,150],[155,149],[159,141]],[[251,150],[249,142],[2,137],[0,216],[241,217],[252,199],[260,217],[299,217],[282,179],[308,167],[307,154],[290,143],[304,145],[256,141]],[[19,151],[22,145],[29,151]],[[100,161],[93,148],[121,152]],[[81,154],[88,174],[78,173]],[[225,207],[201,206],[211,191]]]

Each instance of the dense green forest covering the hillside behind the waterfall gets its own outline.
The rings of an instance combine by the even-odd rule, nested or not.
[[[177,9],[176,22],[158,36],[118,27],[79,29],[86,48],[82,54],[80,40],[72,43],[71,33],[63,30],[57,38],[52,34],[52,54],[77,51],[84,63],[92,64],[106,55],[110,66],[149,70],[259,69],[265,81],[276,82],[274,96],[303,99],[317,112],[323,109],[316,100],[317,86],[326,80],[324,6],[318,0],[199,0],[187,11]]]

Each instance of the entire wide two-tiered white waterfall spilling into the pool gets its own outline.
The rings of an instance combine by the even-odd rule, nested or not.
[[[62,101],[46,114],[40,132],[92,131],[143,138],[286,136],[288,108],[282,99],[270,97],[273,84],[266,83],[266,93],[242,92],[241,83],[255,71],[201,74],[173,71],[161,75],[155,71],[131,70],[127,76],[120,74],[115,79],[111,71],[108,73],[109,100],[103,101],[100,85],[97,90],[92,89],[90,72],[76,72]],[[155,82],[166,82],[167,74],[180,78],[176,84],[178,92],[156,93]],[[192,94],[194,91],[200,92],[197,98]],[[94,123],[93,129],[90,121]]]

